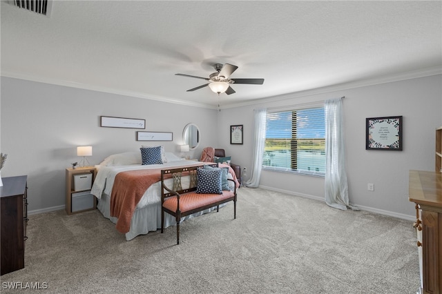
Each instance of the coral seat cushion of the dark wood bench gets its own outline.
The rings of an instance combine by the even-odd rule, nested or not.
[[[180,195],[181,213],[210,205],[224,199],[235,196],[231,191],[222,191],[222,194],[202,194],[202,193],[186,193]],[[163,207],[171,211],[177,210],[177,197],[169,197],[164,200]]]

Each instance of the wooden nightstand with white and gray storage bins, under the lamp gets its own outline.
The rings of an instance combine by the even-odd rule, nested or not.
[[[97,208],[97,199],[90,194],[97,170],[93,166],[66,168],[66,213],[81,213]]]

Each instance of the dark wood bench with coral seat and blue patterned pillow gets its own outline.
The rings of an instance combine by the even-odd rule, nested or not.
[[[171,168],[161,171],[161,233],[164,231],[164,213],[173,215],[177,222],[177,244],[180,244],[181,217],[198,213],[215,207],[219,211],[220,204],[233,201],[233,218],[236,219],[236,184],[233,179],[227,179],[224,170],[218,164]],[[227,172],[226,172],[227,173]],[[182,179],[189,176],[189,188],[182,188]],[[172,187],[166,184],[166,179],[172,178]],[[219,182],[218,182],[219,180]],[[225,182],[233,182],[233,190],[222,190]],[[229,187],[229,185],[227,185]]]

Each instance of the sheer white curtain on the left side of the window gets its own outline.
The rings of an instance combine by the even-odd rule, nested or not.
[[[258,188],[260,184],[262,157],[264,156],[265,128],[267,110],[265,108],[255,110],[255,121],[253,127],[253,161],[251,166],[251,177],[245,186]]]

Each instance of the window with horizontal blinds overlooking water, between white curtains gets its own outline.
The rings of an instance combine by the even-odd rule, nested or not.
[[[323,106],[267,112],[263,168],[325,175]]]

